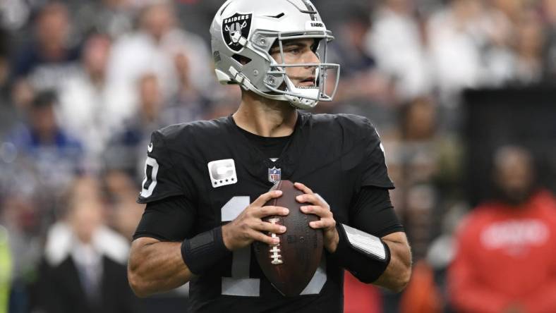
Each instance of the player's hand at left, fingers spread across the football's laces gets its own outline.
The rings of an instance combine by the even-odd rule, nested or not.
[[[254,240],[268,245],[277,245],[279,238],[272,238],[267,233],[284,233],[286,227],[262,221],[269,215],[288,215],[285,207],[264,206],[269,200],[282,196],[282,190],[263,193],[249,204],[234,221],[222,226],[222,238],[228,250],[234,251],[246,247]]]

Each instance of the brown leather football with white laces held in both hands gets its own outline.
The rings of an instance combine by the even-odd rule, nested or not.
[[[315,214],[304,214],[302,205],[296,201],[303,195],[294,183],[280,180],[271,190],[282,190],[282,197],[270,200],[265,205],[286,207],[286,216],[267,216],[263,220],[286,226],[282,234],[269,233],[280,238],[275,246],[260,241],[253,243],[253,250],[262,272],[272,286],[282,295],[300,295],[315,274],[322,256],[322,230],[310,228],[310,221],[318,221]]]

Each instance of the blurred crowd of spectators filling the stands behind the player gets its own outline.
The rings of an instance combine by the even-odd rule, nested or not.
[[[377,293],[380,309],[448,312],[465,302],[450,296],[461,285],[447,282],[465,274],[444,273],[471,209],[461,189],[461,92],[556,85],[556,0],[314,3],[336,37],[330,61],[342,66],[337,97],[316,111],[377,125],[413,249],[417,288]],[[88,303],[79,312],[140,311],[125,268],[150,133],[225,116],[240,100],[212,70],[208,29],[221,4],[0,2],[0,306],[76,312],[52,300],[58,286]]]

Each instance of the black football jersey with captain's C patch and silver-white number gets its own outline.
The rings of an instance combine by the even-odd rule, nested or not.
[[[394,188],[380,138],[366,118],[299,113],[288,145],[271,161],[228,116],[155,131],[138,202],[187,197],[195,204],[188,233],[195,235],[235,219],[280,179],[307,185],[346,224],[363,186]],[[343,269],[324,253],[303,293],[284,297],[246,247],[191,280],[190,303],[192,312],[342,312]]]

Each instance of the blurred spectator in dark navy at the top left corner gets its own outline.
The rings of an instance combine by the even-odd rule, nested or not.
[[[63,82],[79,58],[79,48],[71,42],[71,27],[64,4],[45,4],[35,19],[35,38],[13,63],[13,80],[27,79],[37,90]]]

